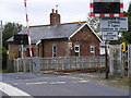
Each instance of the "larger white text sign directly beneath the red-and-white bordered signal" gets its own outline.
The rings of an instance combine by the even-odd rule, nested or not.
[[[126,32],[128,30],[128,17],[102,17],[102,32]]]

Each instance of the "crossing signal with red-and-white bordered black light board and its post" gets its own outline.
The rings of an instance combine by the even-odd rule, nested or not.
[[[110,20],[112,20],[112,17],[123,17],[122,0],[91,0],[90,8],[91,8],[90,16],[97,16],[97,17],[102,17],[102,19],[109,17]],[[104,25],[105,25],[105,23],[104,23]],[[110,29],[103,30],[102,29],[102,32],[114,32],[114,30],[110,30]],[[116,32],[119,32],[119,30],[116,30]],[[109,73],[107,40],[108,39],[105,40],[105,60],[106,60],[105,77],[106,78],[108,78],[108,73]],[[122,49],[122,50],[124,50],[124,49]],[[116,52],[116,51],[114,51],[114,52]]]

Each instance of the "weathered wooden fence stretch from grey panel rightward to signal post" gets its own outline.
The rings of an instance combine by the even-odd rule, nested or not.
[[[105,66],[105,57],[58,57],[40,59],[40,71],[60,71],[102,66]]]

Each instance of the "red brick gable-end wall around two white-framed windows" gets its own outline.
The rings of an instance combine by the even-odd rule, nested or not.
[[[99,40],[86,25],[71,37],[71,41],[73,42],[73,49],[71,50],[72,56],[74,56],[74,45],[80,45],[80,56],[91,56],[91,45],[95,46],[95,56],[99,54]]]

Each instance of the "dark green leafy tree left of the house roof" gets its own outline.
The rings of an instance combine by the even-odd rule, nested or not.
[[[7,23],[3,27],[3,32],[2,32],[2,42],[3,42],[3,47],[5,47],[5,49],[8,49],[8,42],[7,40],[12,37],[13,35],[15,35],[16,33],[19,33],[20,30],[22,30],[22,25],[17,24],[17,23]]]

